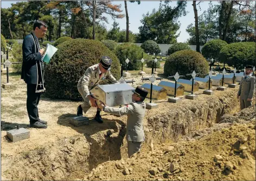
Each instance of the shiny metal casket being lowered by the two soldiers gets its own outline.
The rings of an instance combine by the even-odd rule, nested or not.
[[[118,106],[132,102],[132,90],[135,88],[129,84],[108,84],[95,86],[91,93],[107,106]]]

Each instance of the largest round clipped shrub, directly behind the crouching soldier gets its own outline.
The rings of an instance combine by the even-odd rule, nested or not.
[[[119,60],[100,41],[78,38],[60,44],[50,63],[45,67],[46,96],[81,100],[76,85],[87,68],[98,64],[102,56],[112,58],[111,73],[118,80]]]

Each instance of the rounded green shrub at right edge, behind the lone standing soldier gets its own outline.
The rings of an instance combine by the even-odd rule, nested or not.
[[[244,69],[245,65],[255,65],[256,43],[239,42],[224,46],[220,51],[220,62],[225,62],[236,69]]]

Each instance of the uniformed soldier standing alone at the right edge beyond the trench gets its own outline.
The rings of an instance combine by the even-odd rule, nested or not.
[[[252,105],[253,93],[255,91],[255,77],[252,76],[252,65],[246,65],[245,76],[242,77],[238,98],[240,98],[240,108],[245,109]]]

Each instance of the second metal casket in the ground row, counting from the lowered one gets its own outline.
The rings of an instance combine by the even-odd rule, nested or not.
[[[167,95],[174,96],[175,93],[175,83],[167,82],[167,81],[161,81],[158,86],[163,87],[167,90]],[[176,87],[176,97],[183,96],[184,95],[184,86],[181,84],[177,84]]]

